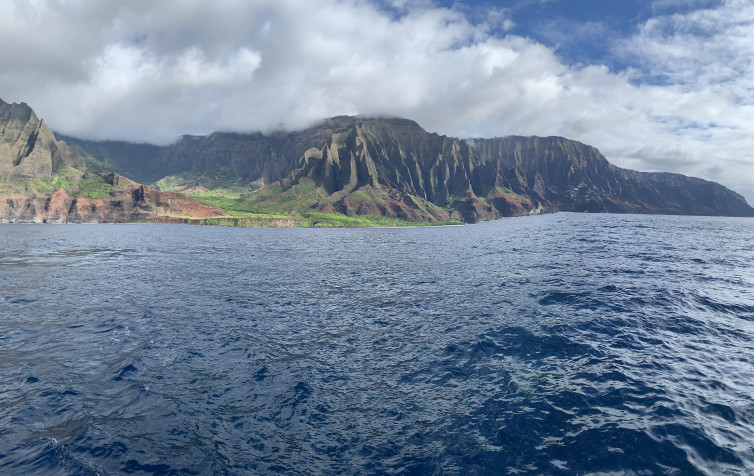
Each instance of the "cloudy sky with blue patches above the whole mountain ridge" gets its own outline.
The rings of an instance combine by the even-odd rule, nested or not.
[[[564,136],[754,204],[754,0],[9,0],[0,98],[167,144],[401,116]]]

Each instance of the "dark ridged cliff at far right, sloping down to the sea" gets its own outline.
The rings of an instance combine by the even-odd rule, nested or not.
[[[741,195],[718,183],[621,169],[594,147],[562,137],[471,142],[512,190],[561,211],[754,216]]]

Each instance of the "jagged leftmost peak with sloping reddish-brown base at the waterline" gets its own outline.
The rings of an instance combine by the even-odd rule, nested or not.
[[[0,100],[0,131],[0,222],[122,223],[225,215],[115,172],[88,172],[77,147],[58,140],[25,103]]]

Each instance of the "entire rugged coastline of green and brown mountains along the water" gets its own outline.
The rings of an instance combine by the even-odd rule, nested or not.
[[[754,216],[722,185],[624,170],[561,137],[462,140],[406,119],[339,116],[298,132],[184,136],[164,147],[63,142],[27,105],[2,101],[0,126],[0,194],[14,196],[0,210],[5,220],[48,219],[38,204],[20,213],[22,198],[49,204],[61,191],[71,208],[52,219],[69,221],[401,226],[552,211]],[[88,202],[91,213],[75,210],[98,200],[140,211],[94,213]]]

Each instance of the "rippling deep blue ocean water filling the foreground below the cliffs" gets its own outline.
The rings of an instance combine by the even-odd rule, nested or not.
[[[0,226],[3,474],[754,474],[754,220]]]

